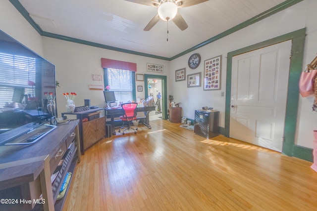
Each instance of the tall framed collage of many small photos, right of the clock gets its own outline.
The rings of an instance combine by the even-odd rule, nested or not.
[[[205,60],[204,90],[220,89],[221,55]]]

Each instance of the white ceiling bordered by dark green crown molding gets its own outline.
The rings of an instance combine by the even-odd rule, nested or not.
[[[179,8],[171,21],[143,31],[157,8],[125,0],[19,0],[44,32],[171,58],[287,0],[209,0]],[[149,0],[151,1],[151,0]]]

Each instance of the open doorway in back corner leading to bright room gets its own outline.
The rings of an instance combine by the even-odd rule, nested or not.
[[[150,85],[151,88],[149,88],[149,84],[151,84]],[[167,79],[166,79],[166,76],[144,74],[144,87],[145,87],[145,98],[148,98],[152,94],[154,97],[154,102],[156,104],[156,110],[158,106],[160,107],[160,111],[159,111],[160,113],[156,114],[154,111],[154,115],[157,115],[158,119],[166,120],[167,119]],[[159,94],[159,92],[161,96],[158,101],[157,99],[159,97],[157,95]]]

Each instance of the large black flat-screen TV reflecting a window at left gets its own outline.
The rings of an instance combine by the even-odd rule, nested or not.
[[[51,119],[47,93],[55,66],[0,30],[0,146]]]

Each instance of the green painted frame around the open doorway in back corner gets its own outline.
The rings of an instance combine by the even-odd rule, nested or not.
[[[162,80],[162,119],[167,120],[167,77],[159,75],[144,74],[144,90],[145,99],[148,98],[148,79],[160,79]]]

